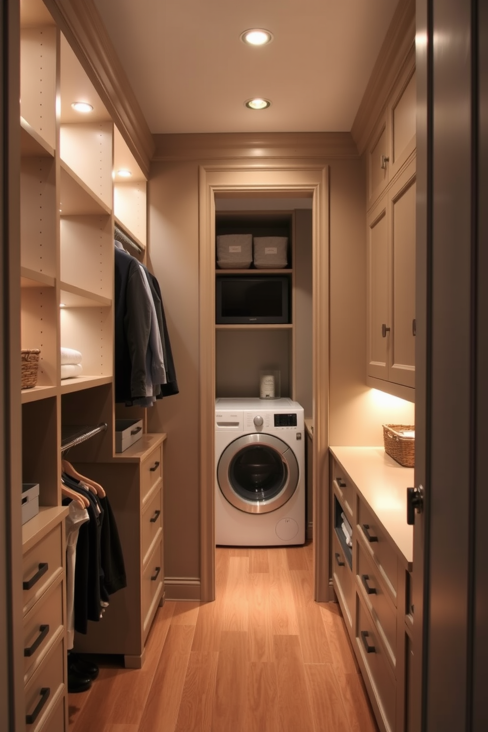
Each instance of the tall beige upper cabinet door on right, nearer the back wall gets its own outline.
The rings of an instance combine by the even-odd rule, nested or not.
[[[386,201],[380,201],[368,217],[367,373],[388,378],[388,216]]]

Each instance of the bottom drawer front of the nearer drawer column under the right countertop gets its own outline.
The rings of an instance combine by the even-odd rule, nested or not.
[[[373,697],[380,708],[386,730],[394,732],[397,712],[397,683],[371,616],[357,597],[356,644],[366,667]]]

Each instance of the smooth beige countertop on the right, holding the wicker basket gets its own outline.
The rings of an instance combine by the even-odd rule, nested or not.
[[[411,569],[413,526],[407,523],[407,488],[413,468],[403,468],[384,447],[331,447],[332,455],[358,488]]]

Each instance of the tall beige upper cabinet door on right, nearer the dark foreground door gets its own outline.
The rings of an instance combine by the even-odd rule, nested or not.
[[[391,192],[391,323],[389,378],[415,386],[415,160]]]

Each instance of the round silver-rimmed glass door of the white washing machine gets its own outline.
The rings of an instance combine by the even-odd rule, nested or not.
[[[299,464],[289,445],[272,435],[243,435],[222,452],[217,481],[233,507],[269,513],[288,501],[299,484]]]

